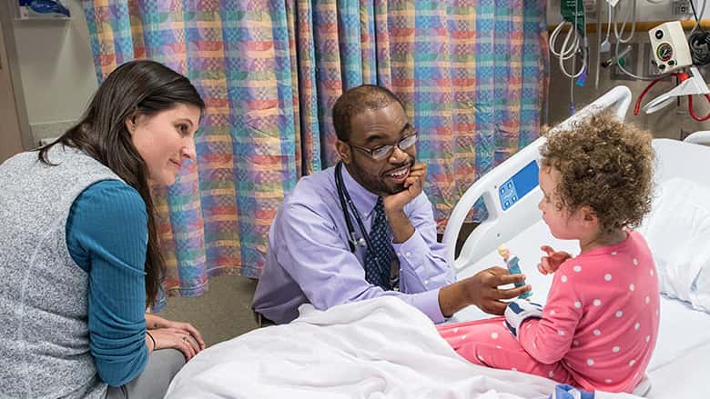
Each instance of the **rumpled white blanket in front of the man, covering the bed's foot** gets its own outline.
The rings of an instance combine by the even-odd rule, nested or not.
[[[261,328],[198,354],[167,398],[546,398],[555,383],[470,364],[391,297]],[[632,397],[614,395],[614,397]],[[600,397],[600,395],[597,395]]]

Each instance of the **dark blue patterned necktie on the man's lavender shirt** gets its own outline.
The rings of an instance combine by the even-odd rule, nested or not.
[[[396,260],[392,248],[390,224],[384,212],[382,197],[378,197],[372,216],[370,243],[365,256],[365,279],[370,284],[379,285],[383,290],[391,290],[390,282],[392,262]]]

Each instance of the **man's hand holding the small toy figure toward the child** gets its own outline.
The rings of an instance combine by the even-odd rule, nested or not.
[[[525,284],[516,288],[501,289],[499,286],[522,283],[524,280],[524,274],[510,274],[502,267],[489,267],[469,278],[442,287],[439,291],[441,314],[451,317],[462,308],[475,304],[487,314],[501,315],[508,306],[505,300],[525,294],[532,287]]]

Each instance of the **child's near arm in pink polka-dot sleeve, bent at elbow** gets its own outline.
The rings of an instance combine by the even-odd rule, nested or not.
[[[529,317],[517,328],[518,341],[525,352],[543,364],[553,364],[567,354],[582,318],[583,301],[574,289],[573,274],[573,265],[565,262],[554,275],[542,314],[529,311]]]

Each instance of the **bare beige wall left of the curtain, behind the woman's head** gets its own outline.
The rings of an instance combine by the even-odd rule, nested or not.
[[[64,132],[96,91],[96,72],[80,0],[69,20],[13,22],[27,117],[35,142]]]

